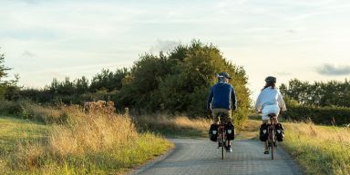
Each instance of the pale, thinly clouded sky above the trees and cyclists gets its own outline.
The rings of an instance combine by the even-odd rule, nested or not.
[[[0,53],[25,87],[130,67],[193,39],[242,66],[252,98],[268,75],[278,85],[350,77],[347,0],[0,0]]]

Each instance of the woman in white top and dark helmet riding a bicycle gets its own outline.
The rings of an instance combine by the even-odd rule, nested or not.
[[[255,111],[262,113],[262,125],[266,125],[269,122],[270,117],[268,114],[275,113],[276,117],[273,117],[273,124],[276,126],[278,121],[277,117],[281,111],[286,111],[285,103],[281,92],[275,87],[276,78],[268,76],[265,78],[265,86],[260,92],[258,99],[255,103]],[[269,150],[264,141],[264,154],[268,154]]]

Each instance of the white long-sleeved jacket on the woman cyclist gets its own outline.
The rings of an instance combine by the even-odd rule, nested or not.
[[[282,111],[286,111],[283,96],[277,88],[268,87],[260,92],[255,102],[255,112],[262,112],[262,108],[266,105],[278,105]]]

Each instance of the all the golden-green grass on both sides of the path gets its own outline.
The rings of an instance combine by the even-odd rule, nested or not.
[[[210,120],[183,116],[131,119],[72,108],[63,111],[69,113],[65,124],[0,116],[0,174],[123,174],[173,147],[154,132],[167,137],[207,137],[211,125]],[[40,113],[45,115],[43,110]],[[257,139],[260,124],[258,118],[248,120],[237,131],[236,140]],[[283,126],[282,146],[305,174],[349,175],[350,129],[311,122],[283,122]]]

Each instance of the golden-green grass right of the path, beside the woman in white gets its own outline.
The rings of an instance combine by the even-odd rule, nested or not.
[[[283,146],[306,174],[350,174],[350,129],[308,123],[285,123]]]

